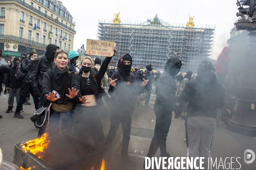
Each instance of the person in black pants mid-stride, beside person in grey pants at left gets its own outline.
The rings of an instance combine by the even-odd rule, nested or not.
[[[32,51],[30,52],[29,55],[35,55],[35,57],[31,57],[31,59],[27,59],[27,55],[25,53],[22,53],[21,54],[21,63],[20,63],[20,67],[23,71],[23,73],[25,73],[23,79],[21,80],[21,85],[20,85],[20,98],[19,98],[19,101],[17,103],[17,107],[16,107],[16,110],[15,110],[15,115],[14,117],[15,118],[19,118],[19,119],[23,119],[23,116],[20,115],[20,112],[23,111],[23,104],[26,102],[26,97],[27,97],[27,94],[30,93],[31,96],[33,97],[33,100],[34,100],[34,104],[35,104],[35,110],[38,109],[38,104],[39,104],[39,99],[38,97],[36,97],[34,95],[34,91],[33,91],[33,88],[32,88],[32,85],[31,85],[31,82],[30,82],[30,74],[31,74],[31,71],[32,71],[32,68],[35,64],[35,59],[36,59],[36,52]],[[16,94],[17,96],[17,94]]]

